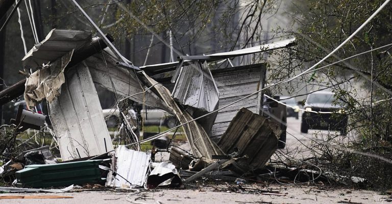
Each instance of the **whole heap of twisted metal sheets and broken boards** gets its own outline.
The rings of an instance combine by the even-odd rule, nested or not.
[[[285,107],[263,97],[265,65],[212,70],[209,63],[230,62],[236,56],[291,46],[294,41],[136,67],[119,62],[124,57],[116,56],[90,32],[54,29],[22,59],[25,70],[36,71],[24,73],[27,78],[0,92],[0,103],[23,94],[27,107],[20,107],[13,121],[16,135],[46,124],[46,116],[34,112],[46,100],[61,162],[48,147],[30,150],[8,159],[0,168],[2,178],[15,179],[13,184],[23,188],[83,184],[156,188],[181,186],[200,177],[236,181],[246,172],[262,169],[279,139],[285,142],[285,127],[279,121],[286,114]],[[94,84],[122,97],[117,108],[120,130],[130,141],[127,145],[113,147]],[[132,107],[121,103],[125,100],[175,115],[178,126],[168,131],[182,126],[191,153],[167,147],[169,161],[157,163],[158,150],[140,151],[140,143],[168,131],[140,140],[137,119],[129,111]]]

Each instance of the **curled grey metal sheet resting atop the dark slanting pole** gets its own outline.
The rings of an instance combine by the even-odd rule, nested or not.
[[[53,29],[23,57],[22,66],[24,69],[42,67],[90,42],[91,32]]]

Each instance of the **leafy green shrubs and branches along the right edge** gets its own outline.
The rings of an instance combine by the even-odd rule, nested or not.
[[[290,12],[299,29],[291,31],[298,40],[290,60],[297,64],[297,72],[304,71],[334,50],[383,2],[312,0],[294,3]],[[391,11],[392,4],[389,4],[350,42],[329,57],[324,65],[392,42],[392,25],[387,23],[392,18]],[[287,61],[287,55],[281,59]],[[387,159],[392,158],[392,104],[389,100],[392,97],[391,65],[392,57],[388,48],[385,48],[303,76],[302,80],[309,83],[329,86],[338,98],[344,101],[346,114],[350,119],[349,129],[353,130],[360,142],[339,145]],[[322,77],[315,77],[317,75]],[[357,84],[362,84],[361,89],[369,92],[367,96],[358,97],[359,87],[351,82],[348,85],[339,85],[339,82],[352,77]],[[385,101],[374,103],[383,99]],[[328,166],[331,170],[365,178],[375,188],[392,187],[391,164],[388,162],[344,151],[326,151],[325,147],[321,151],[323,158],[331,164]]]

